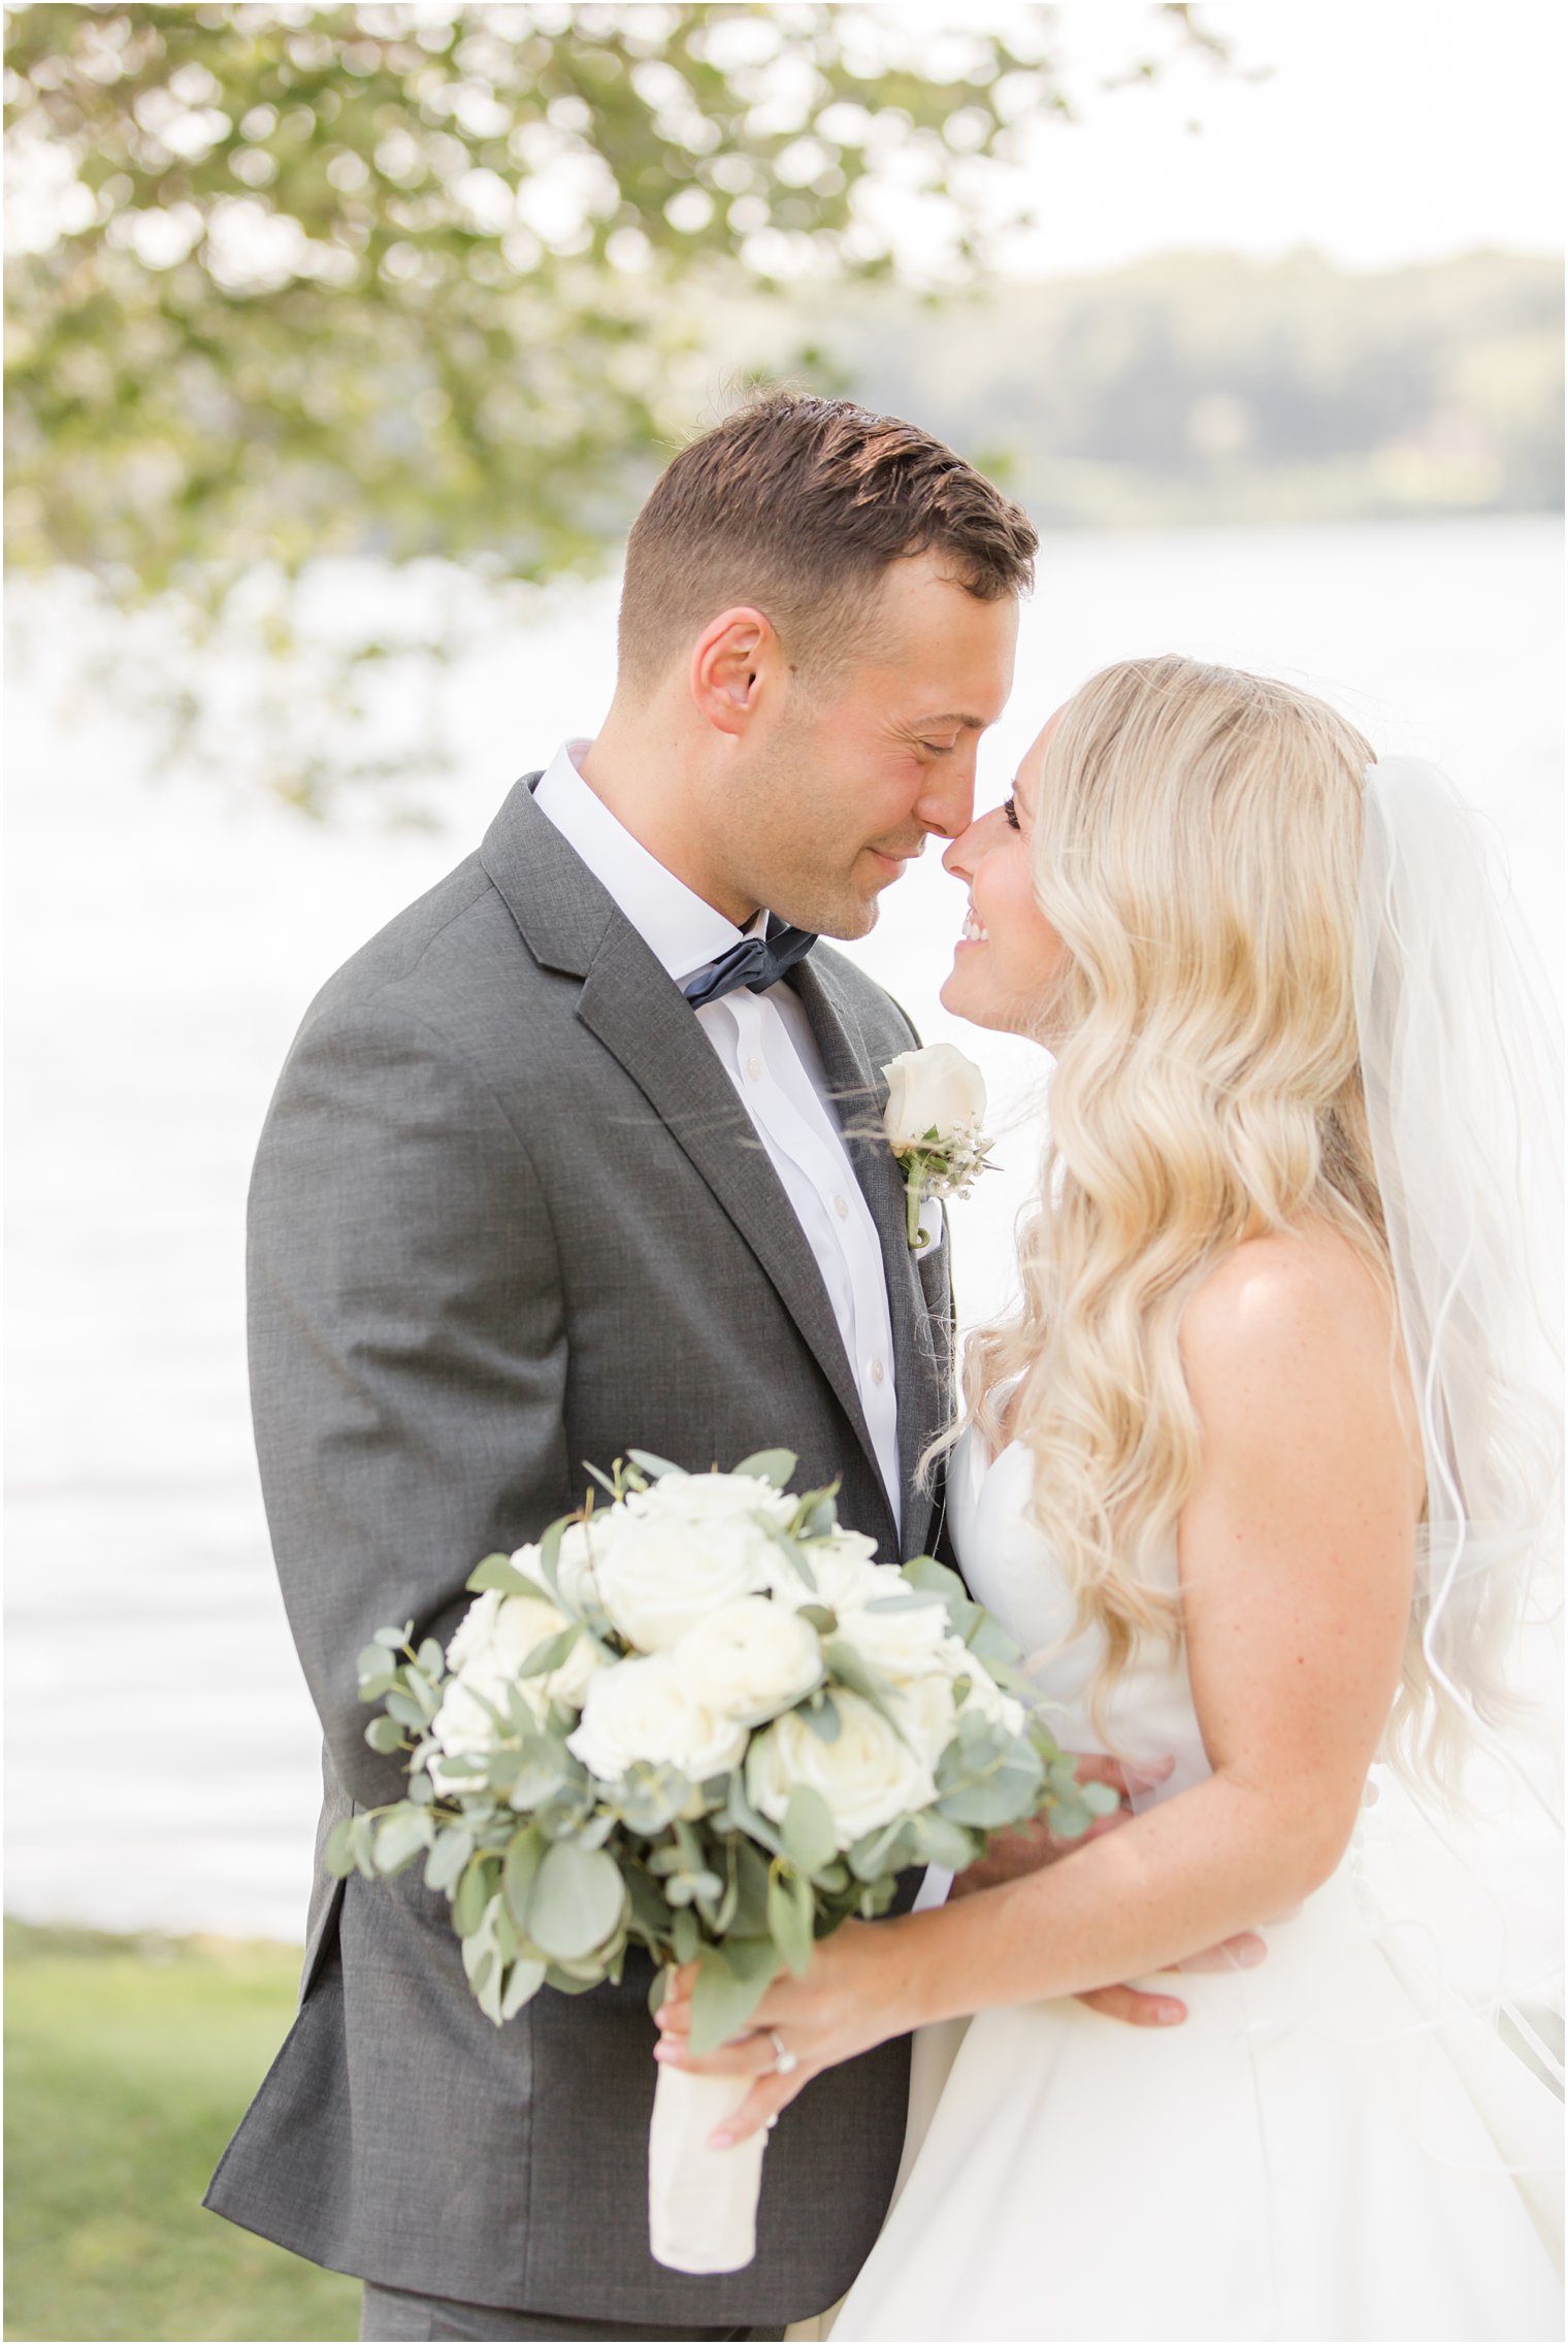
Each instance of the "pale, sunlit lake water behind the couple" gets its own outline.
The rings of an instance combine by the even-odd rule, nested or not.
[[[345,567],[338,591],[404,591]],[[298,1937],[317,1728],[277,1599],[244,1391],[249,1161],[317,985],[479,840],[516,774],[592,732],[615,589],[554,596],[451,685],[432,832],[315,828],[150,786],[75,692],[68,605],[14,586],[9,680],[12,1489],[7,1904],[131,1930]],[[1554,518],[1061,537],[1045,549],[981,802],[1096,666],[1181,650],[1289,675],[1493,818],[1561,994],[1561,525]],[[61,624],[52,624],[61,612]],[[857,957],[986,1067],[1002,1170],[955,1210],[960,1306],[1009,1290],[1042,1060],[948,1020],[962,919],[927,854]],[[636,1437],[636,1428],[629,1428]]]

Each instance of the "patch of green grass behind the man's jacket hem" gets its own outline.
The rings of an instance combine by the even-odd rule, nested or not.
[[[200,2204],[298,1953],[5,1923],[7,2338],[354,2338],[359,2282]]]

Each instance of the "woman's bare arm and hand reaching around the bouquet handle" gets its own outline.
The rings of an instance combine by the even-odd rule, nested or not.
[[[934,2019],[1164,1970],[1307,1897],[1338,1864],[1399,1681],[1418,1466],[1383,1297],[1333,1238],[1263,1238],[1192,1299],[1183,1365],[1202,1470],[1178,1529],[1211,1780],[1080,1855],[934,1914],[847,1923],[758,2031],[751,2132],[819,2068]],[[690,2005],[660,2014],[685,2061]],[[765,2033],[697,2066],[763,2071]]]

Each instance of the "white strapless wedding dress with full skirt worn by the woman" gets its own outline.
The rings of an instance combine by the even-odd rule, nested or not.
[[[1026,1449],[986,1466],[969,1433],[951,1487],[974,1597],[1038,1653],[1073,1602],[1028,1477]],[[1077,1637],[1035,1670],[1066,1749],[1106,1747],[1096,1658]],[[1209,1775],[1183,1658],[1134,1660],[1108,1742],[1176,1754],[1160,1796]],[[899,2190],[836,2345],[1561,2338],[1561,2103],[1483,2019],[1430,2026],[1364,1888],[1376,1817],[1263,1930],[1261,1967],[1164,1982],[1183,2026],[1059,2000],[922,2028]]]

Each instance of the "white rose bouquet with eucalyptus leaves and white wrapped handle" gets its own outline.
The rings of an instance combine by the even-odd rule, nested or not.
[[[366,1740],[404,1754],[408,1796],[336,1827],[326,1862],[366,1878],[425,1860],[493,2021],[540,1989],[620,1979],[627,1946],[695,1963],[692,2042],[739,2033],[812,1942],[876,1918],[908,1867],[960,1871],[986,1836],[1080,1787],[1026,1707],[1016,1649],[932,1557],[876,1562],[833,1489],[791,1496],[796,1459],[690,1475],[629,1452],[589,1505],[469,1578],[446,1651],[376,1632]],[[707,2134],[746,2080],[662,2068],[650,2139],[653,2254],[739,2270],[756,2254],[765,2136]]]

